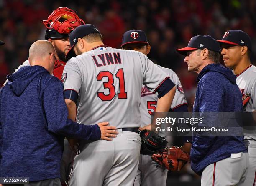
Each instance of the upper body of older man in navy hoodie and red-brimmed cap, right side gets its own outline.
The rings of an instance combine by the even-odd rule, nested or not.
[[[218,63],[220,46],[216,40],[208,35],[198,35],[192,37],[188,47],[177,51],[186,55],[184,61],[187,62],[188,70],[198,73],[193,112],[243,111],[242,95],[236,85],[236,76],[230,69]],[[204,52],[209,53],[204,54]],[[199,62],[199,58],[203,58],[204,55],[211,56],[206,65]],[[207,123],[208,127],[212,124],[221,123],[221,121],[216,122],[215,120],[212,118],[211,122]],[[226,159],[232,153],[247,152],[243,144],[242,127],[237,125],[236,131],[238,133],[241,131],[242,135],[239,137],[205,137],[195,134],[192,139],[190,154],[192,170],[202,175],[202,171],[208,165]]]

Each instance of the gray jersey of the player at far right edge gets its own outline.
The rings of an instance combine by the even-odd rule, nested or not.
[[[236,84],[241,90],[242,96],[251,94],[251,99],[245,106],[245,111],[256,110],[256,67],[250,65],[243,72],[237,75]],[[256,130],[244,130],[245,139],[256,140]]]

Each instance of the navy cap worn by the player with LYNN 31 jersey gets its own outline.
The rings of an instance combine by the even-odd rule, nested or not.
[[[86,35],[91,33],[100,33],[100,31],[94,25],[80,25],[76,27],[69,36],[69,43],[70,43],[70,50],[66,55],[66,59],[69,60],[70,58],[76,56],[73,47],[77,44],[78,38],[83,38]]]

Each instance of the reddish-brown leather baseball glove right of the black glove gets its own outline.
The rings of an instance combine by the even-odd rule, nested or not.
[[[156,161],[160,166],[171,171],[177,171],[179,161],[182,161],[183,166],[189,161],[189,154],[182,151],[180,147],[172,146],[166,148],[163,151],[153,154],[152,159]]]

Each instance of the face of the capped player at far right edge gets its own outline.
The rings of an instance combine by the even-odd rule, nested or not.
[[[221,44],[221,55],[226,67],[233,68],[242,59],[241,46]]]

